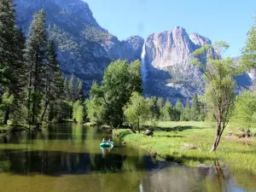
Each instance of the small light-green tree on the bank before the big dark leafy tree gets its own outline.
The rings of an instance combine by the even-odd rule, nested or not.
[[[139,93],[133,92],[130,102],[128,102],[123,109],[127,122],[140,133],[141,125],[148,120],[150,114],[149,100],[145,99]]]

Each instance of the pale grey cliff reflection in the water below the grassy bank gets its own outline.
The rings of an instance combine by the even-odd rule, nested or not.
[[[215,162],[215,167],[186,167],[171,166],[170,168],[154,171],[143,180],[145,191],[187,192],[187,191],[226,191],[227,172]]]

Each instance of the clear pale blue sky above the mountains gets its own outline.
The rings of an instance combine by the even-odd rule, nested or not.
[[[212,42],[230,44],[226,55],[240,55],[256,15],[256,0],[84,0],[98,23],[120,40],[183,26]]]

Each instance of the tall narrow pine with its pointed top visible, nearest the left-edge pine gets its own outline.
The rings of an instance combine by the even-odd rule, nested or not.
[[[28,71],[27,110],[28,122],[35,123],[41,110],[44,91],[45,58],[45,14],[40,10],[33,16],[28,38],[26,40],[26,65]]]

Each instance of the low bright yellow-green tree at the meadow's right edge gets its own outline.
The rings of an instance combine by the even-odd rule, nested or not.
[[[233,120],[248,132],[256,126],[256,93],[245,90],[236,99]]]

